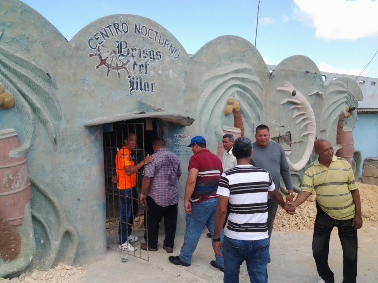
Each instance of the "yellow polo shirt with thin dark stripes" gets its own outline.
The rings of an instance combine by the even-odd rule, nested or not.
[[[316,201],[321,209],[336,220],[355,216],[355,205],[350,191],[357,189],[351,165],[343,158],[333,156],[330,166],[318,160],[306,169],[302,191],[316,191]]]

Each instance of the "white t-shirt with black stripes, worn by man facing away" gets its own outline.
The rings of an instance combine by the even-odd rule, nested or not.
[[[272,177],[265,169],[238,165],[224,172],[217,194],[229,197],[225,235],[247,241],[268,238],[268,191],[274,189]]]

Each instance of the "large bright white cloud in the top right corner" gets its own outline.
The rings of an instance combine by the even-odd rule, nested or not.
[[[378,37],[378,0],[294,0],[294,18],[327,40]]]

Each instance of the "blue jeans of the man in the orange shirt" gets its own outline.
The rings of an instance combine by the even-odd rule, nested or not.
[[[119,244],[127,241],[127,237],[131,235],[134,217],[138,214],[138,192],[136,188],[118,190],[119,192],[119,208],[121,210],[121,219],[118,225]]]

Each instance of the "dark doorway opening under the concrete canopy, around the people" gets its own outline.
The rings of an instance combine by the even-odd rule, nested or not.
[[[147,154],[152,154],[152,141],[156,137],[162,137],[162,125],[159,119],[133,119],[111,124],[103,125],[103,144],[104,144],[104,170],[105,170],[105,194],[106,194],[106,230],[107,230],[107,247],[118,248],[118,225],[120,220],[120,198],[117,184],[113,182],[112,178],[116,176],[115,158],[117,152],[123,147],[123,141],[130,133],[136,134],[137,145],[133,150],[135,156],[135,164],[144,159]],[[142,182],[143,167],[137,172],[136,190],[140,192]],[[122,199],[122,198],[121,198]],[[138,199],[133,198],[134,223],[132,227],[132,235],[139,238],[138,241],[133,242],[132,245],[136,247],[136,251],[129,252],[133,256],[148,260],[148,253],[142,251],[138,246],[140,240],[144,237],[144,207],[137,207]],[[144,253],[144,254],[143,254]]]

